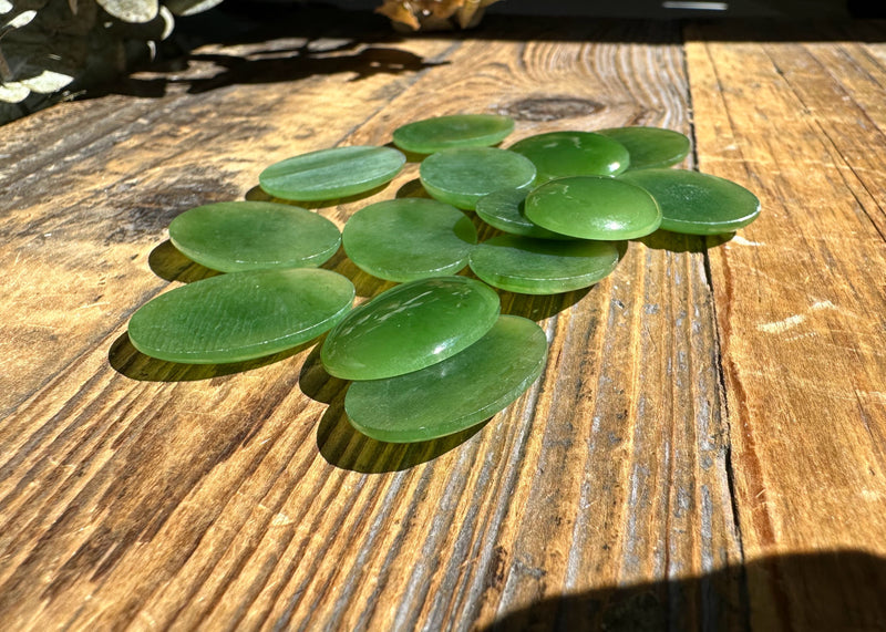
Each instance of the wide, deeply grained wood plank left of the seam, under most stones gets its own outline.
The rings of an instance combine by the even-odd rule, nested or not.
[[[157,248],[168,219],[244,195],[287,155],[384,143],[404,121],[464,110],[511,113],[518,136],[690,131],[673,27],[549,29],[408,40],[398,45],[425,70],[401,76],[332,72],[182,97],[174,124],[72,147],[82,160],[58,174],[70,190],[52,200],[20,190],[27,204],[3,217],[13,238],[0,247],[0,269],[14,272],[0,340],[30,341],[4,358],[3,621],[437,630],[540,615],[568,628],[617,621],[617,587],[658,582],[656,622],[741,624],[701,239],[633,242],[587,292],[503,294],[505,312],[548,332],[545,374],[485,426],[427,444],[351,429],[346,384],[316,349],[187,369],[137,354],[123,335],[132,310],[168,286],[148,265],[200,273]],[[377,197],[414,190],[415,170]],[[146,191],[157,199],[144,204]],[[371,199],[320,213],[341,224]],[[342,257],[331,267],[362,297],[384,287]],[[553,608],[533,610],[545,600]]]

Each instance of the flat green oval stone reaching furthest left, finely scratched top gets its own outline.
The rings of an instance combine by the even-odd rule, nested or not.
[[[240,362],[320,335],[348,313],[353,297],[351,281],[329,270],[231,272],[147,302],[130,320],[130,340],[169,362]]]

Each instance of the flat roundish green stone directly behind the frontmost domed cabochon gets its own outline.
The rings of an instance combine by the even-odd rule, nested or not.
[[[467,265],[477,230],[442,201],[402,198],[357,211],[344,225],[344,252],[360,269],[388,281],[454,274]]]

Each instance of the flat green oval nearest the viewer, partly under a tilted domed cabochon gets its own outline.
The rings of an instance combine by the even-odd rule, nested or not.
[[[437,364],[387,380],[354,382],[344,412],[379,441],[427,441],[468,428],[502,411],[542,374],[545,332],[533,321],[499,317],[477,342]]]

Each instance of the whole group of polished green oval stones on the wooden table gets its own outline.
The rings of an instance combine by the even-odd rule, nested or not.
[[[228,363],[329,332],[321,361],[353,381],[351,424],[380,441],[416,442],[468,428],[540,375],[547,340],[535,322],[499,313],[491,288],[552,294],[609,274],[619,246],[659,228],[719,235],[759,215],[741,186],[669,168],[689,139],[655,127],[553,132],[497,148],[506,116],[461,114],[404,125],[403,152],[426,156],[430,198],[371,204],[340,232],[292,204],[200,206],[169,225],[173,245],[226,272],[163,293],[133,314],[130,340],[171,362]],[[260,187],[288,201],[333,200],[388,184],[398,148],[321,149],[269,166]],[[477,244],[475,222],[501,231]],[[361,270],[400,283],[358,308],[353,283],[319,268],[343,246]],[[475,278],[460,276],[470,266]],[[478,279],[478,280],[477,280]]]

